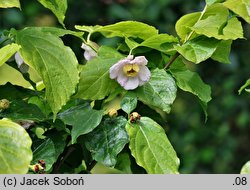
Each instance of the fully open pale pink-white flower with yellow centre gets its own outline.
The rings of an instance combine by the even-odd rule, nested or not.
[[[118,61],[110,70],[110,78],[116,79],[125,90],[133,90],[150,79],[150,71],[146,67],[148,60],[144,56],[128,57]]]

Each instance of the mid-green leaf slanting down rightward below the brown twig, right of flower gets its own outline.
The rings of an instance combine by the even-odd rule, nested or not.
[[[182,65],[183,63],[175,63],[170,68],[177,86],[186,92],[196,95],[202,102],[209,102],[211,100],[210,86],[202,81],[198,73],[192,72]]]

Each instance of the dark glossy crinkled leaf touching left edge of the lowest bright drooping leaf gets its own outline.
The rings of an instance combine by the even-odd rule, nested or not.
[[[94,131],[85,137],[85,145],[93,159],[105,166],[113,167],[117,155],[128,143],[124,117],[107,118]]]

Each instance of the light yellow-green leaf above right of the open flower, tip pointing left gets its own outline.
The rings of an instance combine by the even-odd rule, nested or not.
[[[169,51],[173,49],[173,45],[176,44],[177,42],[178,42],[178,39],[171,35],[158,34],[158,35],[154,35],[146,39],[137,47],[140,47],[140,46],[149,47],[149,48],[161,51],[163,53],[168,53]]]

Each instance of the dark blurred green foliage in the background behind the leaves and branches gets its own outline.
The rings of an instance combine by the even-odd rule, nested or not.
[[[60,27],[55,16],[36,0],[20,2],[22,11],[0,9],[0,31],[25,26]],[[65,25],[74,29],[74,25],[137,20],[155,26],[161,33],[176,35],[175,22],[184,14],[201,11],[204,3],[205,0],[68,0]],[[238,95],[238,89],[250,77],[250,26],[243,25],[249,40],[234,42],[231,64],[209,60],[192,67],[212,87],[207,122],[198,100],[181,90],[166,121],[158,121],[181,159],[180,173],[239,173],[250,160],[250,95]],[[64,37],[64,42],[83,61],[81,42],[70,36]]]

